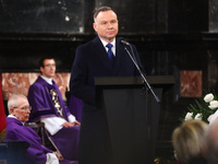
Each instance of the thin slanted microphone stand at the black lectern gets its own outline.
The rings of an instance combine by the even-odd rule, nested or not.
[[[130,44],[128,44],[128,45],[131,47]],[[158,96],[155,94],[155,92],[154,92],[153,89],[150,87],[150,85],[149,85],[149,83],[147,82],[147,80],[146,80],[144,73],[143,73],[142,70],[140,69],[137,62],[136,62],[136,61],[133,59],[133,57],[131,56],[131,52],[128,50],[128,48],[126,48],[125,45],[124,45],[124,48],[125,48],[125,51],[128,52],[128,55],[130,56],[130,58],[132,59],[133,63],[134,63],[135,67],[137,68],[140,74],[141,74],[141,77],[143,78],[145,87],[147,87],[147,90],[152,92],[152,94],[154,95],[154,97],[155,97],[155,99],[157,101],[157,103],[160,103],[160,99],[158,98]],[[132,47],[131,47],[131,49],[132,49]],[[133,52],[133,50],[132,50],[132,52]],[[133,52],[133,55],[134,55],[134,52]],[[145,87],[144,87],[144,89],[145,89]],[[144,90],[144,89],[143,89],[143,90]]]

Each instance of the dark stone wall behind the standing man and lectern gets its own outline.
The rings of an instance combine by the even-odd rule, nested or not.
[[[135,44],[146,74],[175,78],[162,98],[156,148],[156,156],[173,159],[172,130],[195,98],[181,97],[179,72],[203,71],[203,94],[218,90],[217,1],[2,0],[0,71],[38,71],[45,55],[56,57],[58,71],[70,71],[76,47],[96,36],[94,9],[114,8],[119,36]]]

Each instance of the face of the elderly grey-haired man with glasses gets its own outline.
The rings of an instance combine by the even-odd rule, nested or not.
[[[20,97],[17,102],[17,106],[10,108],[10,113],[16,116],[16,118],[19,118],[21,121],[26,122],[28,121],[28,117],[31,114],[28,101]]]

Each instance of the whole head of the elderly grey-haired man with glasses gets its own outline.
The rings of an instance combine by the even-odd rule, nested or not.
[[[28,121],[31,106],[26,96],[22,94],[13,94],[9,97],[8,109],[11,115],[14,115],[21,121]]]

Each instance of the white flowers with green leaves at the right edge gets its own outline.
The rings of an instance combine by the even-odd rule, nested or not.
[[[187,107],[189,112],[185,115],[184,120],[201,119],[209,122],[211,116],[218,109],[218,98],[216,95],[209,93],[204,98],[195,99],[195,104]]]

